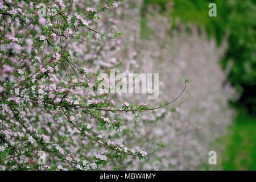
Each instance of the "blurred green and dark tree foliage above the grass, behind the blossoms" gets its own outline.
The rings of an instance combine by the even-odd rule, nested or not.
[[[217,17],[208,16],[209,3],[216,3]],[[241,93],[233,103],[256,115],[256,3],[254,0],[144,0],[142,7],[142,36],[148,35],[146,20],[148,5],[159,5],[162,12],[170,9],[173,28],[180,24],[196,24],[204,27],[209,38],[220,44],[228,35],[228,51],[221,62],[229,72],[227,80]],[[143,31],[147,31],[144,34]]]

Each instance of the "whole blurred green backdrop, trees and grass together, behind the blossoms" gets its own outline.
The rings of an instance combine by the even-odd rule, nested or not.
[[[216,3],[217,17],[209,17],[209,3]],[[228,50],[220,65],[230,82],[241,94],[230,101],[237,109],[232,133],[221,139],[226,144],[222,167],[226,170],[256,169],[256,1],[255,0],[144,0],[141,11],[141,36],[150,35],[147,26],[149,5],[168,13],[171,26],[179,30],[189,24],[204,27],[209,39],[218,44],[228,39]],[[225,83],[224,83],[225,84]]]

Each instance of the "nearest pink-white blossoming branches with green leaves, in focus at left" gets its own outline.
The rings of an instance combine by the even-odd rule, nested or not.
[[[122,32],[111,26],[114,19],[102,18],[119,4],[0,1],[1,169],[96,169],[109,160],[146,159],[163,147],[155,144],[147,153],[129,147],[126,140],[116,142],[121,125],[131,121],[108,114],[136,115],[172,101],[156,107],[127,101],[119,105],[98,94],[102,80],[96,79],[97,73],[122,62],[115,57],[105,61],[108,48],[118,57],[113,52],[120,43],[109,42]],[[110,27],[101,19],[106,24],[109,20]]]

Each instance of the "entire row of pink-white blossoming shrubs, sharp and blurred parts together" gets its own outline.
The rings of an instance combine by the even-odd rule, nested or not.
[[[204,169],[233,117],[225,44],[172,30],[156,6],[142,40],[141,5],[0,1],[1,169]],[[159,97],[176,102],[102,93],[111,68],[160,73]]]

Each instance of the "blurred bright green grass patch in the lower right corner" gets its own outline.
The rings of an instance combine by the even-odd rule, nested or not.
[[[256,170],[256,118],[241,112],[231,134],[223,138],[226,145],[221,156],[224,170]]]

